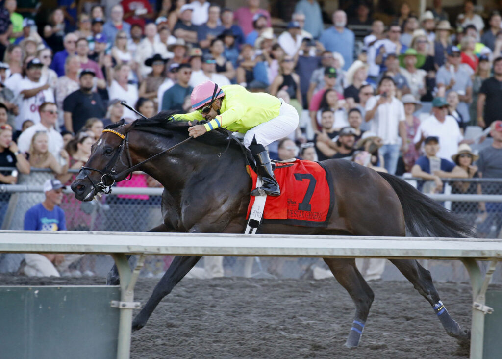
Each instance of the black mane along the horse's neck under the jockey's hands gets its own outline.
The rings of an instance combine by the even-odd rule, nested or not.
[[[161,111],[150,118],[139,118],[129,125],[124,125],[122,119],[115,124],[106,126],[106,129],[117,129],[124,127],[126,129],[126,132],[134,129],[166,138],[172,138],[174,136],[173,132],[176,132],[178,134],[184,135],[185,138],[188,137],[188,128],[190,127],[188,120],[184,119],[183,117],[178,117],[175,119],[173,117],[174,114],[178,114],[178,112]],[[206,121],[200,121],[199,123],[204,124],[205,122]],[[128,127],[126,128],[126,126]],[[228,136],[217,131],[210,131],[204,134],[204,136],[198,137],[196,140],[208,145],[218,147],[228,145]]]

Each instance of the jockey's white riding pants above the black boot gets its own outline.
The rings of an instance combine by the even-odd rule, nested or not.
[[[279,116],[246,132],[244,135],[246,148],[249,148],[254,137],[256,137],[257,143],[268,146],[274,141],[282,140],[296,130],[299,123],[297,110],[292,105],[283,102],[282,98],[281,102]]]

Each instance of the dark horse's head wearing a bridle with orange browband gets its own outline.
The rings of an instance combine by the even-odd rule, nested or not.
[[[128,176],[132,166],[129,153],[131,125],[103,130],[99,140],[92,145],[91,155],[71,184],[75,197],[90,201],[98,193],[109,193],[110,187]],[[126,171],[126,172],[123,172]]]

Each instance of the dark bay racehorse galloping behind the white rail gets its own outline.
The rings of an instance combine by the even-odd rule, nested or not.
[[[86,165],[71,188],[79,200],[91,200],[115,181],[127,177],[128,169],[188,138],[188,123],[172,121],[167,113],[138,119],[128,125],[108,127],[93,145]],[[105,130],[106,131],[106,130]],[[243,233],[251,190],[245,159],[227,136],[210,132],[186,141],[168,154],[157,156],[139,169],[164,186],[164,223],[156,232]],[[265,223],[259,232],[307,235],[438,236],[465,237],[470,229],[439,204],[395,176],[378,173],[346,160],[323,161],[331,173],[335,205],[326,227]],[[135,168],[136,169],[136,168]],[[177,256],[133,322],[142,328],[155,307],[200,260]],[[373,301],[373,292],[355,266],[354,259],[324,258],[336,280],[355,304],[353,323],[345,343],[357,346]],[[446,332],[461,343],[470,333],[463,330],[444,308],[430,272],[415,260],[391,262],[433,306]],[[108,284],[117,284],[113,268]],[[347,323],[349,324],[349,323]]]

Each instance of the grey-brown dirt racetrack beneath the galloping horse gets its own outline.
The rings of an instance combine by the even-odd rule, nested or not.
[[[97,285],[104,279],[0,276],[2,285]],[[145,303],[157,279],[140,278]],[[334,279],[185,279],[133,333],[132,358],[468,357],[408,282],[369,282],[375,301],[358,348],[343,346],[354,306]],[[446,308],[470,328],[468,284],[438,283]]]

